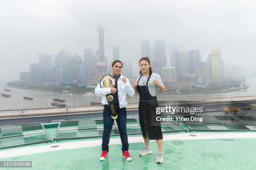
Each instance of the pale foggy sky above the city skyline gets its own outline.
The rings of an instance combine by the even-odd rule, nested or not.
[[[108,62],[118,46],[135,75],[143,39],[165,40],[167,65],[171,50],[200,50],[206,60],[216,48],[225,63],[256,65],[255,16],[254,0],[1,0],[0,80],[19,80],[39,53],[95,53],[99,25]]]

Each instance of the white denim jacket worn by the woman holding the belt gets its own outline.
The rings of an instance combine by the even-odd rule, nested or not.
[[[113,74],[111,73],[111,75]],[[133,87],[131,87],[131,84],[128,78],[126,78],[127,81],[125,83],[122,81],[122,78],[123,78],[123,75],[121,74],[117,81],[118,82],[118,100],[119,100],[120,108],[127,106],[127,100],[126,100],[127,94],[131,97],[133,97],[135,94],[134,89]],[[102,96],[101,103],[103,105],[108,105],[108,100],[106,95],[110,93],[111,93],[110,87],[100,88],[100,83],[97,85],[97,87],[95,87],[95,94]]]

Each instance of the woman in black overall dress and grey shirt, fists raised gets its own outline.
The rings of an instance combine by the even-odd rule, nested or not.
[[[139,77],[138,81],[135,81],[133,83],[133,85],[134,85],[134,90],[138,92],[140,95],[139,122],[141,126],[144,143],[146,146],[146,148],[144,148],[141,151],[140,155],[146,156],[148,154],[151,154],[152,150],[149,147],[149,140],[156,140],[158,150],[159,150],[156,163],[163,163],[164,161],[163,155],[162,155],[163,135],[161,131],[161,122],[156,121],[156,117],[159,116],[156,114],[156,107],[158,107],[158,102],[157,102],[156,96],[152,96],[148,90],[148,82],[153,73],[150,67],[150,60],[148,59],[148,57],[143,57],[139,61],[139,65],[141,69],[140,70],[141,76]],[[144,78],[145,80],[143,80],[143,77],[142,77],[143,75],[146,76],[146,79]],[[140,81],[143,82],[143,85],[138,85],[138,84],[141,84],[139,83]],[[156,88],[155,90],[157,90],[157,87],[159,87],[161,91],[165,91],[164,85],[161,85],[159,80],[153,80],[153,82]]]

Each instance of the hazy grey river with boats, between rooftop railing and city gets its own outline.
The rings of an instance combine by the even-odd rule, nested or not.
[[[159,101],[163,100],[185,100],[185,99],[199,99],[199,98],[217,98],[217,97],[242,97],[256,95],[256,77],[252,77],[246,80],[250,85],[248,91],[233,91],[217,94],[192,94],[192,95],[158,95]],[[10,92],[4,91],[4,89],[10,89]],[[30,90],[30,89],[18,89],[13,87],[6,87],[3,83],[0,83],[0,93],[11,95],[11,97],[0,96],[0,110],[15,110],[15,109],[29,109],[29,108],[46,108],[51,106],[53,98],[64,99],[67,106],[74,105],[90,105],[91,101],[100,102],[101,97],[98,96],[82,96],[81,94],[69,95],[69,93],[51,92],[44,90]],[[23,97],[33,97],[33,100],[24,100]],[[127,98],[128,103],[138,102],[139,96]]]

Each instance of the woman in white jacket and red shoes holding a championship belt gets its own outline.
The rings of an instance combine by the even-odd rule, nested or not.
[[[129,144],[128,144],[128,136],[126,130],[126,120],[127,120],[127,113],[126,113],[126,106],[127,100],[126,96],[134,96],[133,87],[131,87],[128,78],[125,78],[122,74],[123,63],[120,60],[115,60],[112,63],[112,73],[110,78],[112,80],[106,81],[106,77],[104,76],[104,83],[102,83],[104,88],[101,87],[101,82],[95,87],[95,94],[101,95],[102,100],[101,103],[104,105],[103,109],[103,124],[104,130],[102,134],[102,153],[100,155],[100,160],[106,160],[108,156],[108,144],[110,140],[110,133],[113,127],[114,119],[117,122],[118,130],[120,133],[120,138],[122,142],[122,151],[123,151],[123,158],[127,161],[131,161],[132,158],[128,152]],[[114,85],[114,87],[111,86]],[[110,87],[106,87],[110,85]],[[114,113],[114,114],[113,114]],[[116,115],[117,113],[117,115]]]

